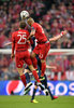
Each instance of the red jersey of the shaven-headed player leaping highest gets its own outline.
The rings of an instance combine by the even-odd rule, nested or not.
[[[33,23],[31,26],[31,29],[35,29],[35,39],[38,40],[39,43],[42,42],[46,42],[47,41],[47,37],[44,33],[44,30],[42,28],[42,26],[38,23]]]

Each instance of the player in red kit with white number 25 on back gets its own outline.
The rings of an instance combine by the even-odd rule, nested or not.
[[[39,76],[36,73],[36,70],[32,66],[30,53],[28,51],[29,45],[28,45],[28,41],[27,41],[27,39],[29,37],[29,32],[28,32],[28,30],[25,30],[25,27],[26,27],[25,22],[21,21],[19,27],[20,28],[18,31],[14,31],[12,33],[12,55],[11,55],[11,57],[12,57],[12,59],[14,58],[14,51],[15,51],[16,67],[19,72],[20,79],[21,79],[24,85],[26,86],[25,90],[28,90],[29,86],[31,86],[31,83],[29,83],[29,84],[26,83],[26,77],[23,72],[24,63],[26,63],[29,66],[35,80],[38,81],[38,85],[40,85],[44,90],[44,87],[39,79]]]

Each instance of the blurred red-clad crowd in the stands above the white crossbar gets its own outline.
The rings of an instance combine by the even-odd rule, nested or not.
[[[0,48],[11,41],[19,27],[19,13],[27,10],[40,23],[47,38],[66,29],[68,35],[51,43],[51,49],[74,48],[74,0],[0,0]]]

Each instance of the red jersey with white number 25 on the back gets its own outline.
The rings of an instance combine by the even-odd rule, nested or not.
[[[12,52],[15,51],[24,51],[28,50],[29,44],[27,42],[27,39],[29,37],[29,31],[20,29],[18,31],[13,32],[12,35]]]

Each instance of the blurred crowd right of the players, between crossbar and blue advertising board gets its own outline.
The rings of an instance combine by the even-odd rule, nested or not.
[[[55,67],[46,69],[48,80],[74,80],[74,55],[49,55],[46,62]]]

